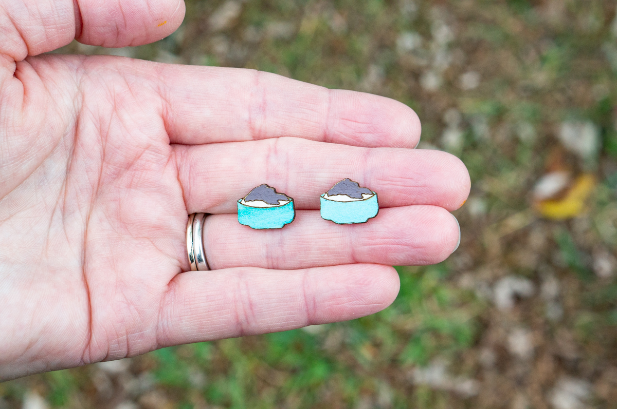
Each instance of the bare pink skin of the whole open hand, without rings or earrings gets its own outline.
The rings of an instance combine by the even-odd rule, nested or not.
[[[0,4],[0,379],[373,314],[399,290],[388,264],[455,249],[468,173],[411,149],[420,122],[402,103],[252,70],[39,55],[73,38],[149,43],[183,16],[181,0]],[[379,193],[379,217],[320,218],[344,177]],[[262,183],[296,201],[285,229],[230,214]],[[195,212],[212,214],[215,272],[186,272]]]

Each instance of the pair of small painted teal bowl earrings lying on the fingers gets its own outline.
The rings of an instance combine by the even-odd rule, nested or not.
[[[320,196],[321,218],[336,224],[366,223],[377,216],[377,193],[343,179]],[[296,218],[294,200],[267,184],[238,200],[238,222],[252,229],[281,229]]]

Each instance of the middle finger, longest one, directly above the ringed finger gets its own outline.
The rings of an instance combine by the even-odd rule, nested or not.
[[[470,190],[465,165],[437,150],[364,148],[300,138],[174,145],[188,213],[235,213],[236,201],[268,184],[319,209],[319,196],[346,177],[378,193],[382,208],[432,204],[458,209]]]

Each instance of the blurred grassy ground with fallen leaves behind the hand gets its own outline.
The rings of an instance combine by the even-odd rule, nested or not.
[[[58,52],[385,95],[468,167],[460,248],[379,314],[0,384],[0,409],[617,408],[617,18],[602,0],[186,0]]]

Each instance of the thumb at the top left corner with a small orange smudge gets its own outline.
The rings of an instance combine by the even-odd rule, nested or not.
[[[16,0],[0,4],[0,54],[14,61],[73,38],[104,47],[160,40],[180,26],[183,0]]]

